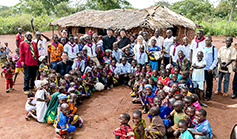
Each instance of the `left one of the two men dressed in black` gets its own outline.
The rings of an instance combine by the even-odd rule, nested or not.
[[[113,32],[111,28],[107,29],[107,35],[103,37],[103,47],[106,49],[113,49],[113,43],[117,41],[117,39],[113,36]]]

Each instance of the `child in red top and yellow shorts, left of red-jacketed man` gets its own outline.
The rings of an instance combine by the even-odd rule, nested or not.
[[[16,81],[16,78],[17,78],[17,75],[18,73],[21,71],[22,73],[24,73],[24,69],[21,65],[21,62],[20,62],[20,56],[19,56],[19,48],[17,48],[15,50],[16,52],[16,55],[14,56],[14,62],[15,62],[15,76],[14,76],[14,81],[13,83],[15,83]]]

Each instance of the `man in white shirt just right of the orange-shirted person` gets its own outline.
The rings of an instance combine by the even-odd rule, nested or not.
[[[68,53],[69,60],[73,61],[75,58],[77,58],[77,53],[79,53],[79,48],[74,42],[74,37],[72,34],[69,35],[69,42],[65,44],[63,51]]]

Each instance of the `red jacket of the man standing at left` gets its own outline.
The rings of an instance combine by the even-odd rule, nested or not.
[[[35,59],[32,57],[31,51],[30,51],[30,44],[26,41],[23,41],[20,44],[20,62],[22,64],[25,64],[26,66],[33,66],[37,65],[37,59],[39,57],[38,48],[35,42],[33,42],[33,49],[35,53]]]

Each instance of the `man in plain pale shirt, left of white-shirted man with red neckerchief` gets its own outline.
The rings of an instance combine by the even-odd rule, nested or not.
[[[168,65],[169,64],[169,58],[170,58],[170,47],[173,45],[173,36],[172,36],[172,31],[168,29],[166,31],[166,38],[163,43],[163,52],[164,52],[164,64]]]

